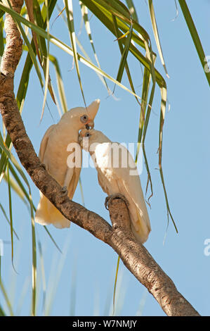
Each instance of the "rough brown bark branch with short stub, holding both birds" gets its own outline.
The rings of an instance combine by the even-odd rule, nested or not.
[[[11,5],[20,13],[22,0],[13,0]],[[158,266],[145,247],[136,242],[131,232],[131,220],[122,199],[108,202],[112,226],[93,211],[70,201],[63,196],[58,185],[34,151],[25,131],[13,93],[13,77],[22,54],[22,39],[13,19],[6,14],[6,48],[1,61],[0,108],[6,130],[27,173],[41,192],[63,215],[73,223],[91,232],[95,237],[109,244],[119,254],[126,268],[147,287],[159,305],[169,316],[199,316],[199,313],[177,291],[172,280]]]

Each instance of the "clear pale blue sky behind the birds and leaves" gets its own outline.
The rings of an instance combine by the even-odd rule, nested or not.
[[[178,1],[177,1],[178,2]],[[58,1],[63,7],[63,1]],[[147,1],[135,1],[140,25],[145,27],[152,39],[152,49],[157,52],[152,35]],[[81,15],[78,1],[73,1],[74,19],[79,41],[92,60],[93,53],[86,36],[84,25],[80,31]],[[148,208],[152,232],[145,247],[155,258],[159,266],[173,280],[178,291],[203,316],[209,316],[210,296],[210,256],[204,254],[204,241],[210,238],[209,223],[209,85],[199,63],[190,32],[183,19],[181,8],[174,1],[154,1],[159,36],[162,43],[166,67],[170,78],[166,78],[164,69],[157,56],[156,67],[164,76],[168,88],[166,120],[163,135],[163,170],[169,204],[173,218],[176,220],[178,234],[171,223],[167,228],[166,204],[158,167],[158,135],[160,93],[156,87],[151,121],[147,131],[145,147],[150,165],[154,195],[151,209]],[[206,55],[210,55],[209,43],[209,1],[188,1],[192,18]],[[51,23],[53,22],[52,18]],[[174,19],[176,18],[176,19]],[[114,36],[102,27],[95,17],[91,18],[91,30],[100,65],[105,72],[117,76],[120,56]],[[79,33],[79,31],[81,33]],[[58,18],[51,27],[51,33],[67,44],[70,39],[67,27],[62,18]],[[51,54],[60,63],[68,108],[84,106],[75,68],[72,69],[72,57],[51,45]],[[79,51],[80,52],[80,51]],[[22,56],[15,88],[18,87],[20,72],[25,61]],[[129,66],[136,92],[140,95],[143,76],[139,63],[132,55]],[[138,120],[140,109],[136,99],[116,87],[115,98],[107,97],[107,91],[98,76],[90,68],[80,64],[81,80],[87,104],[100,99],[100,109],[96,116],[95,127],[117,142],[136,142],[138,138]],[[51,80],[55,86],[55,73],[51,66]],[[122,83],[129,87],[124,78]],[[113,84],[108,82],[113,89]],[[43,93],[39,80],[34,72],[22,112],[25,127],[34,149],[39,152],[39,144],[49,125],[59,120],[58,110],[48,96],[48,108],[40,122]],[[52,117],[51,117],[52,115]],[[15,152],[14,152],[15,154]],[[27,176],[28,177],[28,176]],[[143,168],[140,175],[145,192],[147,173]],[[32,197],[37,206],[39,190],[29,180]],[[82,169],[81,182],[84,191],[86,208],[95,211],[110,222],[109,214],[104,207],[105,194],[98,185],[97,173],[93,168]],[[8,212],[8,192],[5,182],[0,187],[1,204]],[[11,265],[11,245],[4,245],[4,256],[1,258],[1,275],[15,314],[28,315],[31,304],[32,242],[29,212],[22,201],[13,194],[13,223],[20,237],[15,239],[14,266]],[[79,185],[74,201],[82,203]],[[10,228],[1,216],[0,237],[10,241]],[[100,242],[90,233],[72,224],[70,229],[58,230],[48,227],[63,254],[55,248],[51,239],[41,225],[36,225],[37,239],[41,242],[46,277],[46,298],[43,296],[41,277],[41,259],[38,256],[38,309],[42,314],[42,303],[46,299],[46,311],[53,316],[107,316],[112,313],[112,293],[114,274],[117,266],[117,254],[109,246]],[[0,294],[0,301],[2,295]],[[5,307],[5,304],[4,304]],[[117,287],[116,315],[121,316],[164,316],[157,301],[147,292],[136,278],[131,275],[123,263],[120,263]]]

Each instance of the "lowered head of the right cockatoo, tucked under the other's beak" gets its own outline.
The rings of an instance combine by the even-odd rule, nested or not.
[[[103,134],[103,132],[98,130],[86,130],[83,129],[79,132],[79,144],[81,148],[86,151],[90,150],[91,144],[102,144],[105,142],[107,137]]]

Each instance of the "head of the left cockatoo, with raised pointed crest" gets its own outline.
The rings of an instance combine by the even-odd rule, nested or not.
[[[60,124],[66,123],[67,125],[71,123],[71,125],[77,130],[81,130],[84,127],[89,129],[94,126],[94,118],[96,113],[98,112],[98,108],[100,105],[100,100],[97,99],[93,101],[88,107],[76,107],[67,111],[67,113],[63,114],[62,118],[60,118]]]

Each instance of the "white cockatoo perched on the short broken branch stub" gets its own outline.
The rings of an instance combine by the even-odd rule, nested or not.
[[[133,234],[143,244],[151,227],[133,157],[125,146],[111,142],[103,132],[97,130],[81,130],[79,143],[91,154],[98,171],[98,183],[103,191],[108,196],[122,194],[129,202]]]

